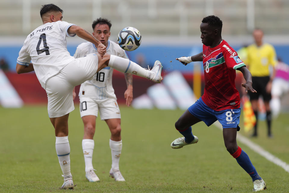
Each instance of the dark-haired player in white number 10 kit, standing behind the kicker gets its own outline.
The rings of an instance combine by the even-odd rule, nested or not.
[[[128,59],[126,52],[117,43],[108,40],[110,37],[110,27],[110,21],[100,17],[92,23],[92,35],[106,46],[108,54]],[[97,52],[97,47],[91,42],[86,42],[77,46],[74,57],[80,58],[95,52]],[[141,65],[140,63],[138,64]],[[99,181],[98,176],[94,172],[95,169],[92,166],[92,154],[94,149],[93,136],[95,134],[95,121],[98,111],[101,120],[104,120],[107,123],[111,133],[109,140],[112,158],[112,165],[109,172],[110,176],[113,177],[115,181],[125,181],[119,168],[122,150],[120,109],[112,86],[112,74],[113,68],[104,68],[95,74],[92,80],[82,83],[79,89],[80,116],[84,124],[82,149],[85,162],[85,176],[89,182]],[[125,73],[124,76],[127,85],[124,97],[126,98],[126,105],[129,106],[133,98],[132,74]]]

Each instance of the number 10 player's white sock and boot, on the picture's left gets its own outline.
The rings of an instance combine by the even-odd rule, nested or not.
[[[95,174],[95,169],[92,166],[92,154],[94,149],[93,139],[82,140],[82,150],[85,163],[85,177],[89,182],[99,182],[98,176]]]

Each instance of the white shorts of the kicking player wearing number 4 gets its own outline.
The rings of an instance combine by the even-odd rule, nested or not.
[[[45,91],[49,118],[61,117],[74,110],[73,88],[91,80],[97,69],[98,56],[89,54],[68,63],[58,74],[47,80]]]

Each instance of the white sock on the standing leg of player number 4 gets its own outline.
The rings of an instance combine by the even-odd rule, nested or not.
[[[56,137],[55,149],[58,156],[59,164],[64,175],[64,180],[71,179],[70,173],[70,146],[68,136]]]

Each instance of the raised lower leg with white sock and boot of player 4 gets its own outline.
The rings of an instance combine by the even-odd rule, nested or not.
[[[160,83],[160,81],[163,80],[163,77],[161,76],[163,66],[158,60],[154,62],[154,67],[151,70],[148,70],[142,68],[140,65],[130,61],[129,59],[124,59],[116,55],[110,55],[108,66],[120,72],[148,78],[156,83]]]

